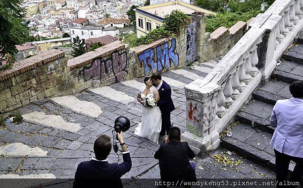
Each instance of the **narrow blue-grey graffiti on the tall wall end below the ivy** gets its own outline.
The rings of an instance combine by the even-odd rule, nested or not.
[[[186,60],[188,63],[197,57],[197,22],[189,24],[186,30]]]

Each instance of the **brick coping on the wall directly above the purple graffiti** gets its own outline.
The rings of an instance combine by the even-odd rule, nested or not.
[[[117,40],[97,49],[94,49],[93,51],[84,53],[83,55],[69,59],[67,61],[67,66],[70,67],[70,69],[81,68],[85,65],[91,64],[95,58],[102,58],[108,56],[113,52],[122,50],[124,48],[125,45],[121,41]]]

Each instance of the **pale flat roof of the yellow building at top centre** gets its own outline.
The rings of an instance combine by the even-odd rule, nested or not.
[[[194,12],[201,12],[205,15],[216,15],[216,12],[209,11],[207,9],[199,8],[190,4],[186,4],[180,1],[173,1],[167,3],[160,3],[155,5],[149,5],[144,7],[136,8],[136,12],[142,13],[147,12],[149,14],[153,14],[160,18],[164,18],[165,15],[170,14],[173,10],[179,10],[184,12],[187,15],[190,15]]]

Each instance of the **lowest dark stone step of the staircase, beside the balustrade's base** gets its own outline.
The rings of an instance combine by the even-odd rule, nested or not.
[[[272,135],[263,131],[257,133],[256,130],[245,129],[246,127],[248,126],[242,123],[232,127],[232,137],[224,137],[221,146],[252,162],[275,170],[274,150],[269,145]],[[291,163],[289,171],[292,171],[293,168],[294,164]]]

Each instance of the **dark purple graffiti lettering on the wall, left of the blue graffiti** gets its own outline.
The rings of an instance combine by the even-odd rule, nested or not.
[[[112,84],[123,81],[127,76],[127,54],[125,52],[112,53],[110,58],[94,59],[90,67],[83,68],[85,79],[105,81]]]

